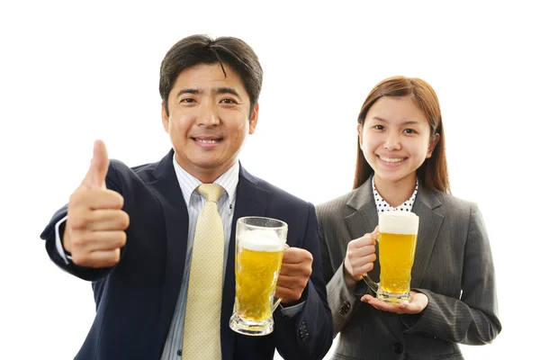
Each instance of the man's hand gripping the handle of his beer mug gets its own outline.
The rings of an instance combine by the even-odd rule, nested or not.
[[[284,261],[275,287],[275,297],[281,298],[284,305],[301,298],[310,280],[311,264],[313,257],[308,250],[299,247],[285,248]]]

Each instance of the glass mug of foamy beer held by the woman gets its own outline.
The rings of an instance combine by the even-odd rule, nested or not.
[[[410,272],[419,233],[419,217],[409,211],[379,215],[380,282],[364,275],[365,283],[383,302],[410,302]]]

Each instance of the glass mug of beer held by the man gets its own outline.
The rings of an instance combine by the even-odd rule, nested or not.
[[[275,284],[284,258],[287,224],[281,220],[245,217],[236,229],[236,297],[229,327],[251,336],[274,331],[272,313],[281,302]]]

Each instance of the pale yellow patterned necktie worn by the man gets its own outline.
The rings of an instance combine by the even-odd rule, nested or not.
[[[218,199],[219,184],[200,184],[195,191],[206,203],[199,213],[185,304],[182,360],[221,358],[221,293],[225,235]]]

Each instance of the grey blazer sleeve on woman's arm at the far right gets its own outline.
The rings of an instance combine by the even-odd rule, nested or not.
[[[466,345],[490,343],[500,333],[491,247],[476,204],[471,208],[464,248],[461,299],[426,289],[414,290],[425,293],[429,303],[419,316],[402,316],[409,328],[405,333],[421,333]]]

